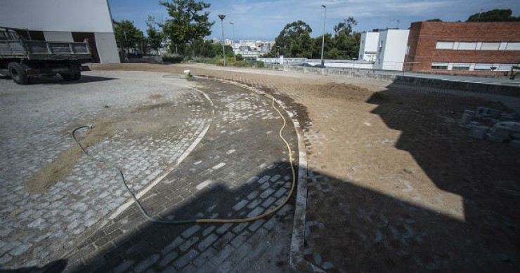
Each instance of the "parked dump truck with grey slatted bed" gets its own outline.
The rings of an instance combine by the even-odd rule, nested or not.
[[[86,62],[92,62],[86,39],[36,41],[28,30],[0,27],[0,73],[11,76],[17,84],[29,84],[32,77],[56,74],[65,81],[78,81]]]

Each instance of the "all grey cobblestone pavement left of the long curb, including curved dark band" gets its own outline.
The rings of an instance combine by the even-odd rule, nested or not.
[[[287,197],[292,176],[278,138],[282,120],[268,98],[154,72],[88,72],[71,85],[0,84],[0,182],[2,200],[12,201],[1,210],[2,268],[287,271],[292,201],[242,224],[152,224],[112,170],[84,157],[48,189],[26,187],[39,169],[75,148],[72,128],[113,119],[114,132],[89,143],[88,152],[122,167],[150,215],[245,218],[270,211]],[[284,135],[297,154],[290,123]]]

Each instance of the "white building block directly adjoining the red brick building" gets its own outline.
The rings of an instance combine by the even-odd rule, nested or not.
[[[379,32],[374,69],[403,70],[409,33],[408,29],[385,29]]]

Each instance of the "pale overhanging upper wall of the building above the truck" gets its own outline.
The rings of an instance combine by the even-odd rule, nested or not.
[[[108,0],[1,0],[0,26],[55,32],[114,32]]]

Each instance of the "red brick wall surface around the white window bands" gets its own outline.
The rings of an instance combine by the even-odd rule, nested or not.
[[[517,63],[520,51],[460,51],[436,49],[437,41],[520,42],[520,22],[414,22],[405,62],[420,62],[413,71],[434,71],[431,62]],[[450,70],[452,73],[457,71]],[[462,72],[467,74],[467,72]],[[477,73],[475,73],[477,74]],[[481,74],[479,72],[478,74]]]

